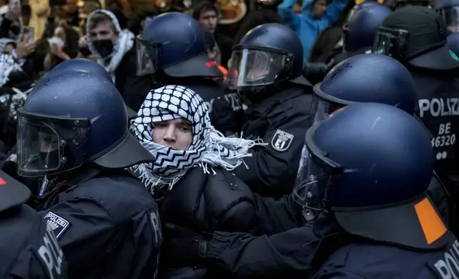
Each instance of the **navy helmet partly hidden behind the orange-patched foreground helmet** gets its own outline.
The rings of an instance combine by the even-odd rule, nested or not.
[[[380,102],[414,115],[416,90],[411,73],[397,60],[380,54],[353,56],[334,66],[314,86],[314,123],[355,102]]]

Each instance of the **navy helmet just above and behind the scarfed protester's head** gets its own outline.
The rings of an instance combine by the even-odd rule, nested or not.
[[[182,13],[165,13],[145,24],[137,37],[138,74],[163,70],[171,77],[221,77],[206,53],[200,23]]]

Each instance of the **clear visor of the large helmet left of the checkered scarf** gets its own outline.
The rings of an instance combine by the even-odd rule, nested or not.
[[[71,147],[83,144],[88,127],[64,127],[58,121],[18,111],[17,165],[21,177],[41,177],[79,167]]]

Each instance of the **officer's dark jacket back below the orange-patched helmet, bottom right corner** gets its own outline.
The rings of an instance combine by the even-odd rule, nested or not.
[[[333,253],[316,278],[455,278],[459,274],[459,242],[432,251],[416,251],[369,241],[352,243]]]

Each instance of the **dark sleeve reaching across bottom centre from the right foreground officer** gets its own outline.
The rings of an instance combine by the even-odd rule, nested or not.
[[[295,278],[296,273],[307,278],[319,243],[312,225],[274,236],[215,232],[206,259],[238,278],[279,278],[286,274]]]

